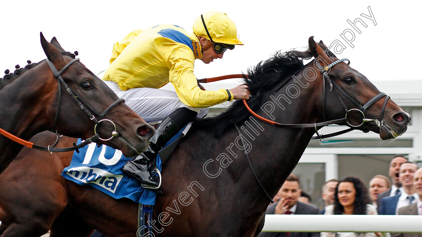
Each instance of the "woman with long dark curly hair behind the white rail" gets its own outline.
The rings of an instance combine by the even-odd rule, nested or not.
[[[345,177],[335,189],[334,204],[327,207],[325,214],[376,215],[375,206],[368,204],[365,184],[356,177]],[[381,233],[321,232],[321,237],[375,237]]]

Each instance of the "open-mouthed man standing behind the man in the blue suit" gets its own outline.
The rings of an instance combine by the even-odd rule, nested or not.
[[[390,161],[390,168],[388,169],[388,175],[391,178],[391,188],[387,189],[384,192],[378,194],[377,197],[377,211],[380,213],[381,209],[381,199],[388,196],[394,196],[400,194],[402,191],[401,183],[398,180],[398,172],[400,169],[400,165],[407,161],[403,155],[395,155]]]

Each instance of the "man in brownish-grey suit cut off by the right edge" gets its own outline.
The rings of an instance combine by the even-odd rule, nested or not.
[[[399,215],[422,215],[422,168],[414,173],[413,186],[418,198],[415,203],[400,207]],[[391,233],[391,237],[422,237],[422,233]]]

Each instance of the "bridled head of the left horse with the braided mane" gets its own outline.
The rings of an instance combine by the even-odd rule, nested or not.
[[[145,150],[154,128],[74,59],[75,55],[65,52],[56,38],[49,43],[42,33],[40,37],[50,66],[43,67],[50,71],[43,84],[52,95],[45,103],[55,105],[47,111],[50,127],[67,136],[84,134],[84,139],[98,134],[97,143],[119,148],[128,157]]]

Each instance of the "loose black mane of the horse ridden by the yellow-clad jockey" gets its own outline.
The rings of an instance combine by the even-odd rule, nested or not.
[[[257,66],[249,69],[249,78],[244,79],[252,95],[248,100],[249,107],[254,111],[258,110],[264,103],[261,96],[262,92],[280,88],[284,84],[283,82],[287,82],[294,73],[304,67],[303,59],[310,58],[312,58],[312,55],[309,50],[305,52],[292,50],[284,54],[277,52],[270,59],[261,61]],[[196,119],[193,127],[209,130],[215,136],[221,137],[235,124],[243,123],[250,116],[251,114],[245,108],[243,101],[238,100],[228,110],[216,117]]]

